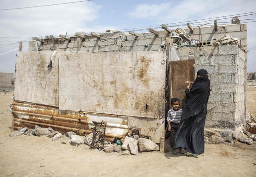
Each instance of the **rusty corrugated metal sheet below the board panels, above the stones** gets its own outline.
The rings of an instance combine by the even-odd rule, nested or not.
[[[87,113],[82,111],[59,110],[58,107],[25,103],[15,100],[13,102],[12,114],[14,117],[14,129],[18,127],[34,128],[52,127],[56,131],[77,132],[78,129],[84,129],[87,134],[92,133],[92,121],[100,119],[108,122],[106,138],[122,138],[128,132],[127,117],[116,115],[104,115],[96,113]]]

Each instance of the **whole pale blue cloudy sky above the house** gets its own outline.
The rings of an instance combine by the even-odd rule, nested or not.
[[[0,9],[74,1],[1,0]],[[90,33],[104,32],[106,29],[160,26],[160,24],[254,12],[255,7],[255,0],[94,0],[58,6],[0,10],[0,72],[14,73],[18,51],[14,49],[18,48],[18,42],[22,40],[24,41],[22,51],[28,51],[28,41],[31,37],[65,35],[66,32],[72,35],[81,31]],[[256,14],[239,18],[256,21]],[[217,22],[231,23],[231,18]],[[255,29],[256,22],[247,24],[248,72],[256,72]],[[14,51],[1,55],[11,50]]]

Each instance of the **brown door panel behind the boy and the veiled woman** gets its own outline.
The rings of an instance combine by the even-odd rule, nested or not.
[[[172,81],[172,97],[178,97],[180,99],[180,107],[185,106],[185,89],[188,84],[184,81],[194,81],[194,69],[193,66],[195,60],[178,60],[170,62],[171,66],[171,81]]]

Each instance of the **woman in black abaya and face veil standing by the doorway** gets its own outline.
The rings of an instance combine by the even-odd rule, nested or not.
[[[186,89],[185,107],[175,135],[174,148],[184,148],[186,155],[198,157],[204,153],[204,123],[210,95],[210,80],[206,70],[198,70],[192,88]]]

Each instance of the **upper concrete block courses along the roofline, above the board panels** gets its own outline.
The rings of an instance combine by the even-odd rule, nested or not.
[[[246,24],[218,26],[218,31],[216,32],[214,26],[193,28],[193,33],[191,33],[188,28],[184,28],[184,30],[190,34],[191,39],[215,41],[225,35],[231,35],[232,37],[239,38],[240,44],[247,45]],[[174,31],[175,30],[172,30],[172,32]],[[80,42],[80,51],[158,51],[160,44],[165,41],[167,36],[169,36],[169,33],[166,30],[159,31],[158,36],[147,32],[138,34],[138,37],[119,31],[103,33],[100,34],[100,39],[96,36],[86,36],[86,38]],[[58,40],[44,39],[43,42],[37,41],[38,51],[77,51],[77,38],[79,37],[73,36],[71,40],[59,38]],[[30,42],[29,51],[36,51],[35,46],[35,42]]]

